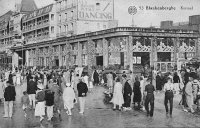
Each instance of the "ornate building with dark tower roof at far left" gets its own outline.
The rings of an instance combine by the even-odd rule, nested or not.
[[[23,15],[37,9],[37,6],[33,0],[21,0],[16,2],[15,9],[8,11],[0,17],[0,52],[1,52],[1,67],[10,67],[12,62],[15,62],[14,58],[18,58],[19,63],[22,63],[22,53],[12,53],[10,48],[21,42],[21,18]],[[20,57],[21,56],[21,57]]]

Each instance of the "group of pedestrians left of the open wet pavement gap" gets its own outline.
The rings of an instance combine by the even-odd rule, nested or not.
[[[25,117],[27,117],[27,111],[33,110],[34,115],[40,117],[40,121],[44,120],[45,116],[50,121],[55,113],[58,113],[59,118],[61,118],[63,108],[66,114],[71,116],[74,104],[78,101],[79,113],[84,114],[85,97],[89,87],[87,73],[79,76],[73,70],[29,70],[23,78],[24,82],[20,84],[14,84],[14,75],[11,72],[10,74],[12,79],[11,75],[8,78],[5,78],[6,75],[4,75],[0,82],[2,93],[0,99],[4,102],[4,118],[12,118],[13,116],[16,99],[15,87],[25,85],[27,86],[22,87],[23,96],[21,97]],[[22,78],[20,78],[21,81]]]

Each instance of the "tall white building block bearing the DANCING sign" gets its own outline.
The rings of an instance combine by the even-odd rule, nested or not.
[[[57,0],[57,37],[117,26],[113,0]]]

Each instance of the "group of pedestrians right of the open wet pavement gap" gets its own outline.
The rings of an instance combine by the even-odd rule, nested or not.
[[[115,80],[111,73],[107,75],[108,87],[113,88],[113,110],[119,111],[131,110],[131,101],[134,108],[147,111],[147,116],[153,116],[155,93],[164,92],[164,106],[166,115],[172,117],[173,98],[182,94],[181,103],[183,110],[194,113],[194,104],[200,108],[200,83],[198,73],[189,69],[182,71],[167,73],[165,77],[161,77],[161,72],[157,73],[156,85],[153,85],[152,78],[135,77],[134,81],[125,74],[118,75]],[[132,98],[133,97],[133,98]],[[136,107],[137,104],[137,107]],[[149,108],[150,104],[150,108]]]

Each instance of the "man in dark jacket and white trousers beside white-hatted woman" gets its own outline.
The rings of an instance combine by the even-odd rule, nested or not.
[[[82,81],[82,78],[79,78],[79,83],[77,84],[78,98],[80,103],[80,114],[84,113],[85,108],[85,97],[88,92],[87,84]]]

